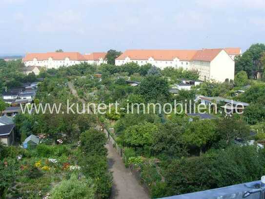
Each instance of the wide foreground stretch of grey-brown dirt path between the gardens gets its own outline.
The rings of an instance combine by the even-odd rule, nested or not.
[[[112,144],[108,142],[109,170],[113,172],[111,199],[149,199],[143,187],[138,183],[130,170],[125,168],[122,158]]]

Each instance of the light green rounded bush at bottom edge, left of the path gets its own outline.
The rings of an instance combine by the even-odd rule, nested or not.
[[[51,199],[94,199],[94,186],[91,179],[78,179],[72,175],[69,180],[62,180],[51,191]]]

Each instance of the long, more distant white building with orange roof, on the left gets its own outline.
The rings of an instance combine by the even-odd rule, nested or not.
[[[102,64],[105,62],[106,53],[91,53],[82,55],[79,52],[47,52],[29,53],[22,62],[27,66],[42,66],[45,68],[59,68],[81,63]]]

